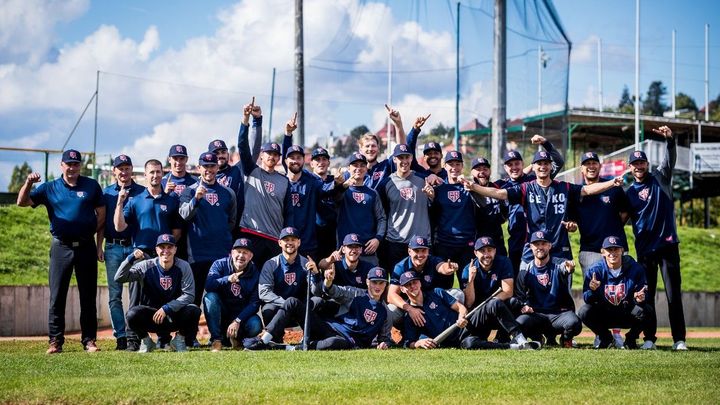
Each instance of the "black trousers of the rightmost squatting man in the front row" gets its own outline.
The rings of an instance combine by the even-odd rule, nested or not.
[[[647,340],[655,312],[647,303],[629,307],[585,304],[580,307],[578,316],[593,333],[600,337],[601,347],[606,347],[612,343],[610,328],[630,328],[625,334],[625,339],[633,343],[640,336],[640,332],[643,332]]]

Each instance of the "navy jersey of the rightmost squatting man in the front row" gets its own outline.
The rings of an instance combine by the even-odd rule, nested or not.
[[[590,289],[590,280],[600,281],[595,291]],[[620,273],[614,276],[605,259],[593,264],[583,280],[583,299],[587,304],[607,307],[628,307],[635,304],[635,293],[647,287],[645,269],[630,256],[623,256]]]

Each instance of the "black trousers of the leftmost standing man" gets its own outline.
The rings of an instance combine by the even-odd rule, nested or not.
[[[97,338],[97,249],[94,239],[50,243],[48,337],[65,342],[65,305],[73,270],[80,295],[82,344]]]

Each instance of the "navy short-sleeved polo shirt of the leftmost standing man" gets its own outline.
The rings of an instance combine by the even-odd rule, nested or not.
[[[98,225],[95,209],[105,204],[98,182],[85,176],[78,176],[75,186],[63,177],[42,183],[30,191],[30,199],[33,208],[47,208],[50,233],[60,239],[92,240]]]

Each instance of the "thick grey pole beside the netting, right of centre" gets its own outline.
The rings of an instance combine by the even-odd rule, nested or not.
[[[495,79],[495,109],[492,122],[492,167],[497,177],[502,176],[500,155],[505,144],[505,79],[506,79],[506,43],[505,43],[505,0],[495,0],[495,21],[493,41],[493,76]]]

